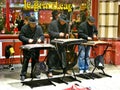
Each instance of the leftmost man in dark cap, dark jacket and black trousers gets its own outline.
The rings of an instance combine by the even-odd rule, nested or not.
[[[41,43],[44,41],[44,34],[42,31],[41,26],[36,24],[37,20],[35,17],[29,18],[29,23],[24,25],[20,31],[20,34],[18,36],[19,40],[22,41],[23,45],[25,44],[35,44],[35,43]],[[38,49],[32,49],[30,51],[23,50],[23,64],[22,64],[22,70],[21,70],[21,80],[24,81],[27,74],[27,68],[29,59],[32,59],[32,69],[31,69],[31,77],[32,71],[35,63],[39,61],[39,50]]]

